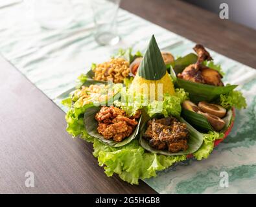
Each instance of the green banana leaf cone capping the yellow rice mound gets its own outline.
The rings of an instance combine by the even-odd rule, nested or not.
[[[150,43],[137,72],[139,76],[146,80],[160,80],[167,72],[154,35],[150,39]]]

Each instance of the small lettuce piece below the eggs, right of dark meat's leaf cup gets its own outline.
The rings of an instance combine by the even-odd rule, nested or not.
[[[223,133],[217,133],[216,131],[209,131],[209,133],[204,134],[204,142],[198,151],[194,152],[192,155],[197,160],[202,160],[202,158],[207,158],[213,151],[215,140],[224,137]]]

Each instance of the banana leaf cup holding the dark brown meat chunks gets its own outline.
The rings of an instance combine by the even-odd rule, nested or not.
[[[158,150],[158,149],[154,149],[153,147],[151,147],[148,144],[148,141],[143,138],[143,134],[145,133],[146,127],[147,127],[147,125],[146,125],[147,122],[144,122],[143,125],[141,126],[141,131],[140,131],[140,135],[139,135],[139,144],[141,145],[141,147],[143,147],[147,151],[149,151],[151,153],[161,154],[161,155],[173,156],[173,155],[189,155],[191,153],[194,153],[195,151],[197,151],[200,148],[200,146],[202,146],[203,141],[204,141],[204,135],[202,135],[202,133],[200,133],[199,131],[194,129],[183,118],[180,118],[180,121],[185,123],[187,125],[187,129],[189,129],[189,140],[187,142],[189,147],[187,150],[180,151],[178,153],[171,153],[168,150]]]

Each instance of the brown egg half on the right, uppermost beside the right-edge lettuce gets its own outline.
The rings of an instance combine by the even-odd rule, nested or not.
[[[220,118],[224,117],[227,112],[227,110],[224,107],[221,107],[220,105],[213,104],[213,103],[199,102],[198,107],[204,113],[213,114]]]

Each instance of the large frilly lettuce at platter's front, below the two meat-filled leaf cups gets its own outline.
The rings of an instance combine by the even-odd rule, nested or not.
[[[139,184],[139,179],[156,177],[156,171],[186,159],[185,155],[170,157],[148,153],[139,146],[138,140],[122,147],[106,146],[95,140],[93,147],[93,155],[98,157],[99,165],[104,166],[108,177],[117,173],[122,180],[131,184]]]

